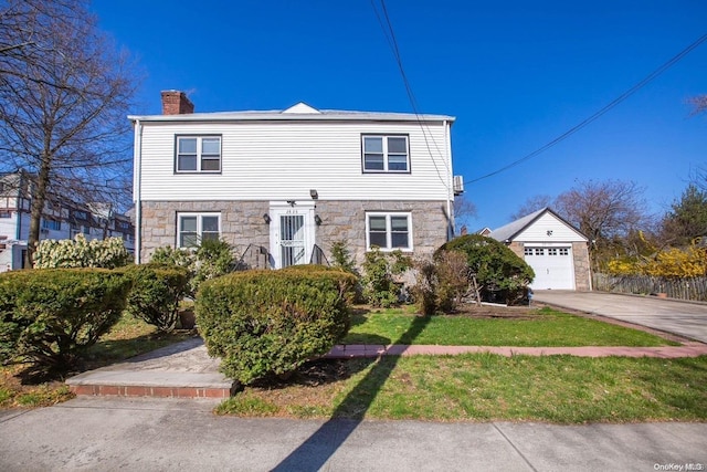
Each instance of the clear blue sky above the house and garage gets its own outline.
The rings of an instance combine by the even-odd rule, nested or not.
[[[379,7],[379,0],[374,0]],[[388,0],[422,113],[457,117],[454,174],[474,180],[564,133],[707,33],[704,0]],[[101,27],[145,73],[135,114],[161,90],[198,112],[412,112],[371,1],[94,0]],[[633,180],[662,213],[707,166],[707,43],[539,156],[466,186],[469,227],[497,228],[536,195],[577,179]]]

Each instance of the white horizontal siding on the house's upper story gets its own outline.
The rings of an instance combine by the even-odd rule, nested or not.
[[[418,123],[143,123],[141,200],[453,199],[446,128]],[[221,136],[221,174],[175,174],[176,136]],[[361,135],[408,136],[409,172],[361,171]],[[433,161],[433,158],[434,161]]]

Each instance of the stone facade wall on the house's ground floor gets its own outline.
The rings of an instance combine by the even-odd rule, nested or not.
[[[270,201],[144,201],[141,203],[140,259],[149,261],[157,248],[177,244],[178,212],[221,212],[221,237],[241,252],[249,244],[270,250],[270,225],[263,214]],[[405,211],[412,213],[412,243],[415,256],[431,255],[446,242],[445,201],[346,200],[316,202],[321,224],[316,227],[315,243],[331,262],[331,244],[346,240],[357,264],[366,253],[366,212]]]

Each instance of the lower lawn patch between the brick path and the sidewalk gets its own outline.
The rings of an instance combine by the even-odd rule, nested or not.
[[[221,415],[556,423],[705,421],[707,356],[389,356],[338,380],[249,387]]]

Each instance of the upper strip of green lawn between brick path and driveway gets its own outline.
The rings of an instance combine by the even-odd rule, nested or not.
[[[516,318],[422,317],[391,311],[357,314],[342,343],[518,347],[678,345],[642,331],[550,308],[518,312]]]

